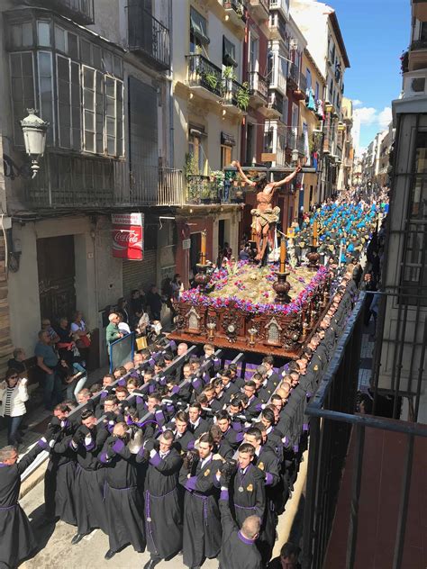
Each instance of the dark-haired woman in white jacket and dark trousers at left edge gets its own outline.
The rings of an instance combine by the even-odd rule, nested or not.
[[[27,379],[19,379],[18,372],[8,369],[5,381],[0,384],[0,417],[7,425],[7,444],[16,446],[21,442],[18,428],[25,415],[28,401]]]

